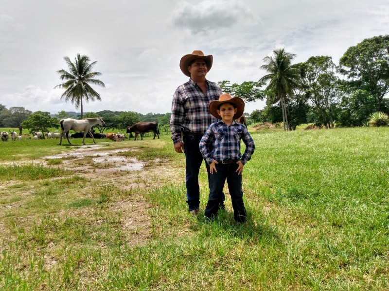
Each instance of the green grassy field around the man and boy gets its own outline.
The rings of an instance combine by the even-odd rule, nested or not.
[[[126,187],[38,162],[75,146],[0,143],[0,289],[389,290],[389,128],[252,136],[243,225],[228,195],[227,211],[204,221],[204,166],[199,215],[187,212],[184,156],[168,135],[105,144],[165,161],[165,176]],[[119,207],[135,198],[149,205],[142,243],[128,239]]]

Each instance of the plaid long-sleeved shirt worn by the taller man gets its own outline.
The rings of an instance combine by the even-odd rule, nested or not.
[[[219,100],[222,94],[220,87],[206,80],[207,96],[201,88],[190,79],[179,86],[173,95],[170,131],[174,144],[181,141],[181,126],[184,130],[203,134],[217,118],[208,111],[212,100]]]

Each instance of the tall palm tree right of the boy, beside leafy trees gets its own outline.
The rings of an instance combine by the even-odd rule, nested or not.
[[[261,65],[269,74],[262,77],[259,82],[270,81],[266,91],[274,98],[273,101],[280,101],[283,111],[283,130],[289,130],[286,97],[293,94],[293,89],[298,87],[300,70],[291,65],[295,54],[285,52],[284,49],[273,50],[274,57],[267,56],[263,59],[266,65]]]

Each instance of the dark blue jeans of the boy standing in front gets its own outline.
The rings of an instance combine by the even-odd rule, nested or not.
[[[222,164],[219,162],[215,166],[217,172],[213,172],[211,175],[210,196],[207,207],[205,208],[205,216],[211,219],[216,217],[224,183],[227,179],[232,208],[234,210],[234,219],[237,222],[245,222],[246,209],[243,203],[242,175],[238,175],[238,173],[235,172],[238,168],[238,164],[234,162]]]

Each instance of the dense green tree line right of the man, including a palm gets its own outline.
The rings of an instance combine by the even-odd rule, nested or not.
[[[339,65],[330,56],[312,56],[306,62],[292,64],[295,57],[284,49],[276,49],[273,56],[263,59],[265,65],[261,68],[267,74],[252,85],[262,87],[267,83],[265,89],[256,92],[256,98],[266,98],[266,106],[253,111],[251,119],[282,122],[285,130],[293,130],[304,123],[328,129],[335,124],[337,127],[364,126],[376,112],[387,118],[389,35],[367,38],[350,47]],[[219,85],[229,86],[229,82],[219,82]],[[227,90],[239,96],[234,85]]]

